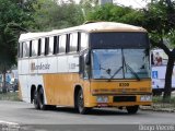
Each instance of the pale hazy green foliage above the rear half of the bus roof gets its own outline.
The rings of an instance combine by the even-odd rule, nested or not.
[[[34,20],[39,31],[63,28],[83,23],[81,8],[74,2],[58,4],[52,0],[37,0],[33,4]]]

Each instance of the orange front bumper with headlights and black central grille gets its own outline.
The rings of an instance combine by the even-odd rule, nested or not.
[[[152,95],[97,95],[91,96],[85,107],[126,107],[126,106],[151,106]]]

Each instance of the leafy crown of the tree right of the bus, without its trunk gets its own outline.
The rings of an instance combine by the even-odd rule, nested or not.
[[[173,9],[173,10],[172,10]],[[151,38],[154,41],[160,41],[162,38],[173,41],[175,21],[175,4],[172,2],[172,9],[166,0],[152,0],[144,10],[143,26],[149,31]],[[175,44],[174,41],[172,45]]]

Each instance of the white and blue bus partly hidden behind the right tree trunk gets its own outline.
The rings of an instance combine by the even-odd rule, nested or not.
[[[155,58],[161,58],[161,63],[156,64]],[[152,72],[152,92],[153,95],[162,95],[164,92],[165,85],[165,73],[167,66],[167,55],[163,49],[153,49],[151,50],[151,72]],[[172,91],[175,91],[175,68],[173,69],[172,74]]]

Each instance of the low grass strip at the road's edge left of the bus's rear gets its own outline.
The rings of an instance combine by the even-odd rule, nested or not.
[[[20,100],[18,92],[0,93],[0,100]]]

